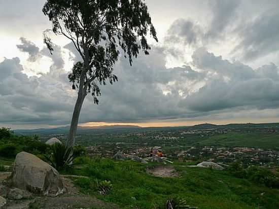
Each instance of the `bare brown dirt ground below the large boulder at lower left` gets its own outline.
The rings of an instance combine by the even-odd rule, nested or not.
[[[0,172],[0,182],[3,182],[11,172]],[[68,178],[87,178],[82,176],[62,176],[65,192],[59,196],[32,196],[30,199],[7,201],[3,209],[86,209],[86,208],[119,208],[116,204],[105,203],[90,195],[84,195]]]

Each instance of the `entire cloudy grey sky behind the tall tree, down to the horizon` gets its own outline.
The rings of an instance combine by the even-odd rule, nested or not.
[[[70,123],[77,92],[67,74],[79,60],[63,37],[50,55],[44,0],[0,0],[0,126]],[[279,122],[279,1],[146,0],[159,43],[119,81],[87,96],[80,123],[142,126]]]

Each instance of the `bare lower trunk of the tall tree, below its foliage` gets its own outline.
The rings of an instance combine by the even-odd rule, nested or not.
[[[78,98],[77,98],[75,109],[74,109],[73,116],[72,116],[71,127],[69,129],[69,134],[68,134],[68,141],[67,141],[68,147],[74,147],[74,145],[75,145],[75,141],[76,141],[75,137],[76,137],[76,133],[77,133],[80,112],[81,112],[81,108],[82,108],[82,104],[83,104],[85,96],[86,96],[86,93],[84,92],[84,90],[79,89]]]

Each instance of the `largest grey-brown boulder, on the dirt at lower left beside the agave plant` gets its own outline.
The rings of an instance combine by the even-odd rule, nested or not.
[[[11,183],[35,194],[61,194],[63,182],[58,171],[40,158],[26,152],[17,154]]]

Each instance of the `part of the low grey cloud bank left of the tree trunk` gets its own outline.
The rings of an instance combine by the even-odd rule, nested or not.
[[[28,78],[22,71],[19,58],[0,63],[0,121],[64,123],[73,102],[68,86],[49,74]]]

